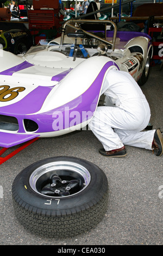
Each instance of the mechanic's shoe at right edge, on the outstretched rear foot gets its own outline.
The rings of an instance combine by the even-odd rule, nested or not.
[[[152,149],[157,151],[156,156],[161,156],[163,153],[163,136],[159,129],[154,133]]]

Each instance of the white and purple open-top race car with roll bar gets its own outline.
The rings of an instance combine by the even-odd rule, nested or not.
[[[114,22],[99,20],[68,20],[60,38],[23,56],[1,50],[0,147],[85,127],[107,72],[129,72],[142,85],[152,54],[149,35],[117,32]]]

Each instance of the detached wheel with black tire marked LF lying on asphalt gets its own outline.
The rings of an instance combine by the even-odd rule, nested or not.
[[[16,176],[12,202],[18,221],[33,234],[70,237],[102,220],[108,205],[108,180],[93,163],[51,157]]]

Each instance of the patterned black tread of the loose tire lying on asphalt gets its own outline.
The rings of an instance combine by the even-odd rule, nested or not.
[[[71,237],[87,231],[102,220],[108,205],[108,193],[106,192],[100,202],[91,206],[85,211],[74,212],[66,216],[51,216],[41,211],[41,215],[32,212],[29,208],[24,208],[18,204],[14,198],[12,203],[15,215],[18,221],[23,224],[24,228],[29,230],[32,234],[41,235],[45,237]],[[67,212],[66,212],[67,213]]]

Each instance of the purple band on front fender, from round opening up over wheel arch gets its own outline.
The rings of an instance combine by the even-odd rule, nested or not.
[[[85,93],[78,96],[76,99],[58,108],[52,109],[51,111],[30,115],[29,118],[36,121],[36,123],[39,125],[39,130],[37,130],[37,133],[55,131],[55,119],[61,123],[61,126],[58,126],[58,130],[67,129],[68,127],[78,125],[86,120],[89,120],[95,112],[98,104],[98,96],[101,90],[105,72],[112,65],[118,68],[116,63],[112,61],[106,63],[89,89],[87,89]],[[77,118],[78,120],[76,120],[74,115],[78,115],[80,118]]]

